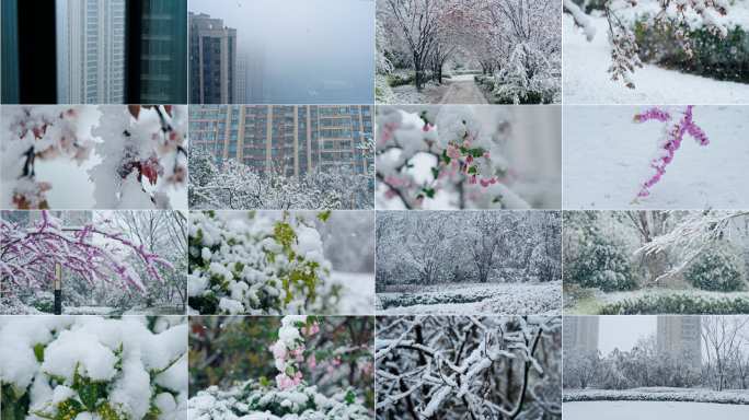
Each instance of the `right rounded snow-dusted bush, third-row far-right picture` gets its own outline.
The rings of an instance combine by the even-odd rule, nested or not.
[[[734,246],[725,241],[707,246],[683,276],[684,280],[703,290],[734,292],[747,287],[744,264]]]

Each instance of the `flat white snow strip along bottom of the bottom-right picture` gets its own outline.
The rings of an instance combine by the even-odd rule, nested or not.
[[[708,402],[585,401],[565,402],[564,420],[747,419],[749,408]]]

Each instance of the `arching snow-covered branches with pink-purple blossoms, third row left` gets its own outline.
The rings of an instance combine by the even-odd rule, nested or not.
[[[46,285],[46,279],[55,279],[54,267],[59,264],[89,284],[94,284],[97,278],[113,282],[113,275],[117,273],[127,292],[135,287],[146,294],[140,276],[120,257],[129,248],[143,260],[147,272],[163,284],[157,265],[173,270],[172,264],[158,254],[147,252],[122,232],[107,229],[108,223],[110,220],[104,220],[83,226],[64,226],[47,211],[42,211],[42,220],[34,222],[33,226],[0,220],[2,281],[38,290]],[[93,234],[115,240],[122,246],[96,244],[92,242]]]

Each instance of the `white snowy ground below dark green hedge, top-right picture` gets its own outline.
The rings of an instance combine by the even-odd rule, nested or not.
[[[749,103],[749,84],[722,82],[648,63],[635,69],[631,75],[635,81],[634,90],[627,89],[621,79],[612,82],[607,73],[611,66],[607,20],[598,16],[590,16],[590,20],[596,36],[587,42],[583,30],[575,28],[572,16],[564,14],[565,105]]]

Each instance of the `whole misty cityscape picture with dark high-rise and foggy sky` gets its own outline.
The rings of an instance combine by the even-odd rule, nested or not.
[[[189,3],[191,104],[372,103],[373,1]]]

